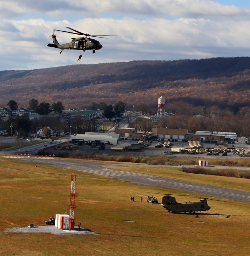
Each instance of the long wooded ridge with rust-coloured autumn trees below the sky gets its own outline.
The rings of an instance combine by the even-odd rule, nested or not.
[[[132,61],[71,65],[26,71],[0,71],[0,107],[15,100],[61,101],[65,109],[100,102],[126,103],[155,113],[158,98],[165,110],[198,114],[209,111],[249,113],[250,57],[176,61]]]

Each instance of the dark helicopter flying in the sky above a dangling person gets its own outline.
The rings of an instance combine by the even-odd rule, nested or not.
[[[47,46],[61,49],[60,53],[62,53],[63,50],[82,50],[84,52],[86,50],[92,50],[92,52],[95,53],[96,50],[99,50],[102,48],[102,45],[100,44],[99,41],[93,38],[90,38],[90,36],[93,36],[96,38],[104,38],[103,36],[114,36],[114,35],[89,35],[89,34],[85,34],[80,31],[77,31],[73,28],[69,28],[69,27],[67,28],[71,29],[74,32],[53,29],[54,31],[52,35],[53,44],[49,43]],[[61,31],[69,34],[76,34],[82,37],[72,38],[72,41],[70,43],[59,44],[58,41],[56,40],[56,35],[54,34],[55,31]]]

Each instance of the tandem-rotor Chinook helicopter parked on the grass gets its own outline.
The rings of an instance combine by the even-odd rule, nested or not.
[[[191,196],[191,195],[187,195]],[[223,201],[223,200],[216,200],[211,198],[202,198],[198,202],[177,202],[176,198],[173,197],[171,194],[165,194],[162,197],[161,206],[163,206],[168,212],[202,212],[210,210],[211,207],[207,204],[207,199],[215,200],[215,201]],[[223,201],[226,202],[226,201]]]

